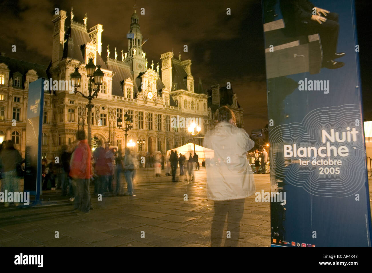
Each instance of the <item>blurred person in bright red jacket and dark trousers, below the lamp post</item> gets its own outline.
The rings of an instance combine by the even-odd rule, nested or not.
[[[89,180],[91,176],[90,159],[92,154],[84,131],[77,131],[76,139],[79,142],[71,155],[69,175],[72,177],[76,186],[74,211],[80,211],[77,214],[82,215],[89,213]]]

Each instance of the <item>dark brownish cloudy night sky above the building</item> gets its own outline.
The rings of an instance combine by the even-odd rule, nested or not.
[[[201,3],[202,2],[202,3]],[[67,11],[71,6],[74,21],[83,23],[87,13],[88,28],[103,25],[102,57],[106,60],[117,48],[128,49],[126,33],[134,12],[134,0],[5,0],[0,3],[0,52],[6,57],[48,65],[52,52],[52,18],[58,7]],[[204,89],[213,84],[230,82],[244,109],[245,129],[263,128],[267,123],[266,80],[262,7],[260,0],[245,1],[136,1],[142,35],[148,41],[142,46],[149,65],[160,63],[160,54],[173,49],[174,57],[192,61],[191,72],[197,84],[202,78]],[[226,9],[231,8],[231,15]],[[364,118],[372,120],[371,94],[371,1],[356,0],[360,73],[362,78]],[[323,7],[327,8],[327,7]],[[368,14],[367,14],[368,13]],[[16,45],[16,52],[12,52]],[[183,45],[188,52],[183,52]]]

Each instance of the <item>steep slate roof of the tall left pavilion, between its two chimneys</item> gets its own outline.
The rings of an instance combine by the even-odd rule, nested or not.
[[[85,63],[85,45],[91,41],[89,34],[83,25],[71,23],[65,34],[62,59],[71,58]],[[96,51],[96,65],[107,69],[102,57]]]

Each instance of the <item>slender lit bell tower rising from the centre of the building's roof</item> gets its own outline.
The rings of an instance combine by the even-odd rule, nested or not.
[[[146,54],[142,51],[142,33],[140,29],[140,24],[138,23],[140,17],[138,16],[136,10],[131,16],[131,27],[128,38],[128,51],[127,56],[124,60],[126,64],[131,68],[133,78],[145,71],[145,57]]]

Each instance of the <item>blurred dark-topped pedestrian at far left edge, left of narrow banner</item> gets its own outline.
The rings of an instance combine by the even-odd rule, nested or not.
[[[1,184],[4,184],[4,192],[7,190],[13,194],[19,191],[20,174],[17,174],[17,168],[22,164],[22,156],[19,151],[14,148],[13,141],[8,140],[5,144],[5,149],[0,153],[0,166],[3,179]],[[16,201],[16,200],[15,200]],[[15,206],[19,203],[15,202]],[[5,207],[9,206],[9,202],[4,203]]]

